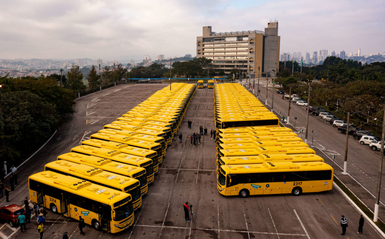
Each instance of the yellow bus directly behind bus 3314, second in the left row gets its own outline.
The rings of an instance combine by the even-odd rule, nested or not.
[[[44,170],[84,179],[100,186],[128,193],[131,195],[134,210],[142,206],[141,187],[137,179],[122,177],[122,175],[103,171],[99,168],[65,160],[47,163]]]

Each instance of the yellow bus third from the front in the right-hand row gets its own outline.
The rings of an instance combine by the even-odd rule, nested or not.
[[[220,149],[217,153],[217,161],[221,157],[227,156],[249,156],[268,153],[278,154],[315,154],[315,151],[308,147],[281,147],[281,146],[265,146],[252,149]]]

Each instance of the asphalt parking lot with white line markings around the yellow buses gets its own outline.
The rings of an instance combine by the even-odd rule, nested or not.
[[[104,124],[130,110],[151,96],[162,84],[120,85],[77,100],[73,117],[59,129],[44,148],[20,169],[22,183],[10,195],[12,203],[22,205],[28,194],[27,177],[42,171],[45,163],[67,153]],[[188,129],[187,120],[192,121]],[[213,89],[197,89],[177,134],[167,149],[163,164],[141,209],[135,212],[135,223],[124,232],[103,233],[86,226],[82,238],[380,238],[366,223],[364,235],[356,233],[359,212],[336,188],[323,193],[224,197],[216,189],[215,142],[202,136],[200,144],[191,144],[189,136],[199,126],[214,128]],[[316,149],[317,150],[317,149]],[[317,154],[323,157],[321,151]],[[192,204],[194,221],[184,221],[183,204]],[[4,198],[0,200],[4,205]],[[49,210],[48,210],[49,211]],[[348,218],[346,235],[341,236],[340,215]],[[191,218],[192,219],[192,218]],[[77,221],[49,211],[44,237],[79,238]],[[35,218],[27,232],[16,230],[12,237],[38,238]],[[357,226],[356,226],[357,225]],[[7,226],[0,232],[11,230]],[[5,233],[5,232],[4,232]],[[8,233],[8,232],[7,232]],[[12,232],[11,232],[12,233]],[[9,234],[5,234],[9,235]],[[1,234],[0,234],[1,236]]]

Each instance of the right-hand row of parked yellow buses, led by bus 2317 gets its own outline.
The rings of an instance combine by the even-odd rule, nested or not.
[[[219,193],[256,194],[331,190],[333,168],[243,86],[214,86],[216,174]]]

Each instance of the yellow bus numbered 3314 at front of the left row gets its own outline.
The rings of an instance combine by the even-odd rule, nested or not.
[[[88,181],[43,171],[28,177],[29,198],[55,213],[111,233],[134,222],[131,196]]]

